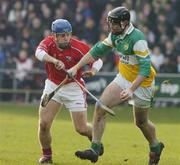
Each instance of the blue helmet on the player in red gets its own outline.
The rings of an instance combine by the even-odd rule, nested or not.
[[[70,33],[72,32],[72,26],[66,19],[57,19],[52,22],[51,31],[53,33]]]

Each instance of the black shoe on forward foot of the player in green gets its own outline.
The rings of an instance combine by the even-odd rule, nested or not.
[[[98,161],[98,157],[102,156],[104,153],[104,146],[101,143],[99,153],[96,153],[93,149],[87,149],[85,151],[76,151],[75,155],[80,159],[90,160],[92,163],[96,163]]]

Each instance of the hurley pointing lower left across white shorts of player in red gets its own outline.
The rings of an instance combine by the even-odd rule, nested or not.
[[[56,92],[67,82],[68,76],[65,77],[65,79],[56,87],[54,91],[52,91],[49,94],[45,94],[41,101],[41,106],[45,107],[48,102],[51,100],[51,98],[56,94]]]

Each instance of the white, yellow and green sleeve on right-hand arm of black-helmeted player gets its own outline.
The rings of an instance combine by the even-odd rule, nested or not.
[[[150,52],[146,40],[139,40],[134,44],[133,51],[139,63],[139,75],[149,77],[151,72]]]

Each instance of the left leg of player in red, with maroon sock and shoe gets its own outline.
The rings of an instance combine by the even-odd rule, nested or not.
[[[50,100],[45,108],[39,107],[38,137],[42,148],[42,157],[39,163],[52,163],[51,125],[60,108],[60,103]]]

